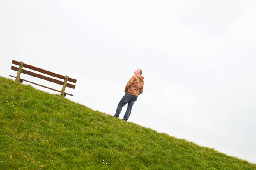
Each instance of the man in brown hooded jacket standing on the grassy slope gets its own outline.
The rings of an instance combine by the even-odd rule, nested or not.
[[[144,86],[144,76],[141,75],[142,71],[141,69],[137,69],[134,72],[134,76],[131,77],[131,79],[128,81],[126,87],[125,87],[125,96],[120,100],[118,103],[115,117],[119,117],[119,114],[122,111],[122,107],[124,107],[127,103],[127,110],[125,112],[124,118],[122,120],[127,121],[131,114],[132,106],[134,105],[134,102],[137,100],[138,96],[142,94],[143,92],[143,86]]]

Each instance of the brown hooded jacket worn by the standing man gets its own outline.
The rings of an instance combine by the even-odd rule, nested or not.
[[[139,74],[132,76],[125,87],[125,93],[131,94],[134,96],[139,96],[140,94],[142,94],[143,86],[144,86],[143,79],[144,79],[144,76]]]

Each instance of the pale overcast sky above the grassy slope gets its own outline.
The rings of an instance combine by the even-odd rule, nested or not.
[[[68,75],[78,80],[68,99],[113,115],[141,68],[129,122],[256,163],[255,9],[255,0],[1,0],[0,76],[16,76],[12,59]]]

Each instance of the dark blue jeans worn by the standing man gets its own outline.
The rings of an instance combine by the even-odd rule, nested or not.
[[[130,117],[130,114],[131,114],[132,106],[133,106],[134,102],[137,100],[137,98],[138,98],[138,96],[134,96],[131,94],[125,94],[125,96],[123,96],[123,98],[118,103],[118,106],[116,109],[116,114],[114,116],[119,117],[119,114],[122,111],[122,107],[124,107],[128,103],[127,110],[125,112],[124,119],[123,119],[123,120],[128,120],[128,118]]]

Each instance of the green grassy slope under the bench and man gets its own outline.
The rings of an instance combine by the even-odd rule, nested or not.
[[[256,164],[0,77],[0,170],[256,170]]]

